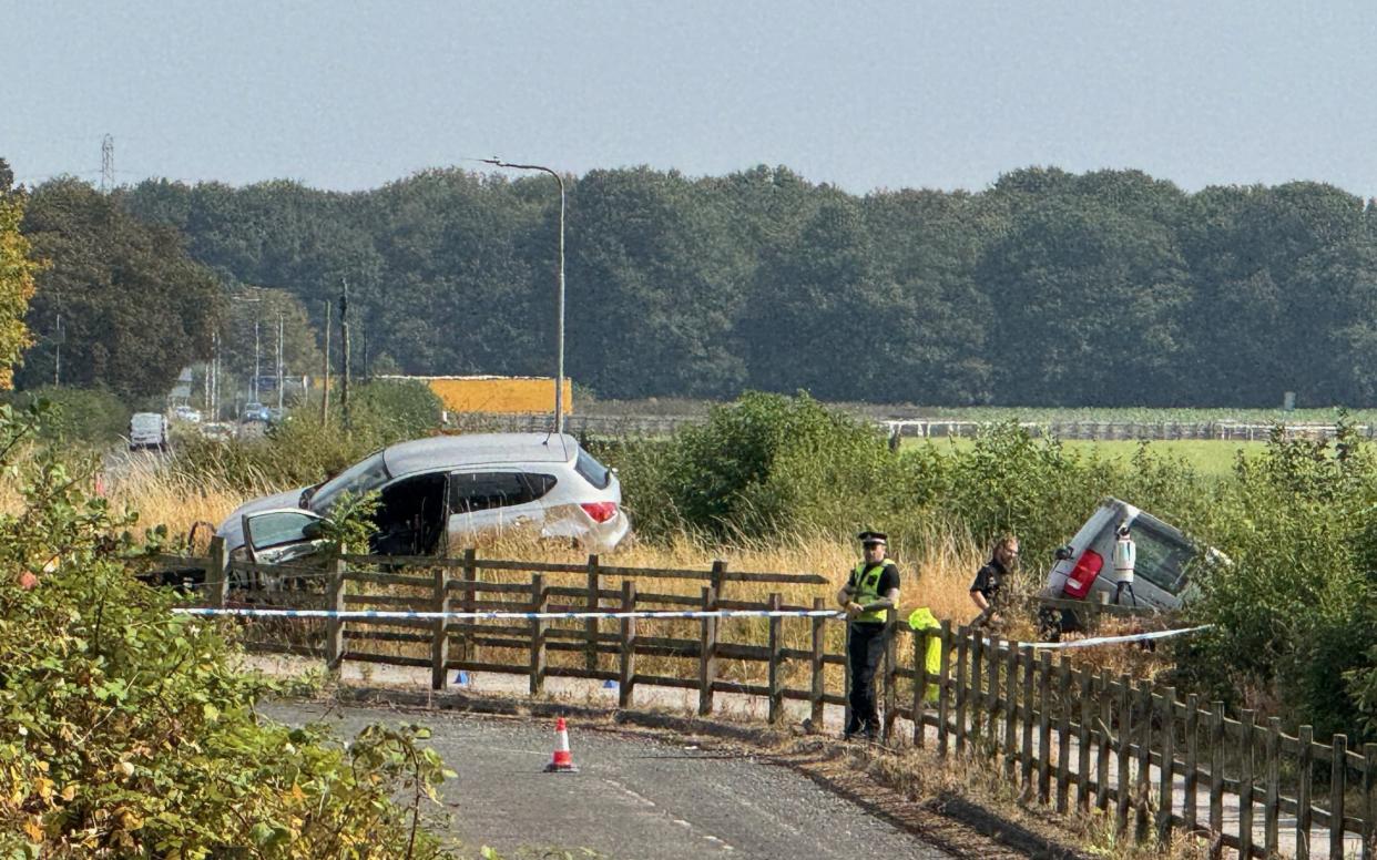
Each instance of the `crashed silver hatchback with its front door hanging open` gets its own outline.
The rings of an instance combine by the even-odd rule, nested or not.
[[[402,442],[314,487],[242,505],[218,534],[275,564],[318,552],[319,522],[348,493],[380,493],[375,555],[449,555],[478,534],[530,530],[607,552],[631,534],[621,483],[570,435],[470,433]]]

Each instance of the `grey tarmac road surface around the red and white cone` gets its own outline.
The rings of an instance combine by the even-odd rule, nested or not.
[[[753,755],[570,727],[578,773],[544,773],[555,732],[514,720],[372,707],[274,703],[289,724],[328,722],[341,739],[370,722],[414,722],[459,773],[442,786],[467,850],[587,848],[620,860],[862,856],[946,857],[812,780]],[[530,854],[523,854],[530,856]]]

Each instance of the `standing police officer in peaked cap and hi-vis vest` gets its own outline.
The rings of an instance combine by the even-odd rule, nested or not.
[[[874,670],[884,654],[885,611],[899,605],[899,568],[884,557],[885,535],[862,531],[856,535],[865,546],[865,561],[855,566],[850,579],[837,592],[837,603],[847,611],[847,654],[851,659],[851,714],[845,738],[865,735],[873,740],[880,733],[880,716],[874,702]]]

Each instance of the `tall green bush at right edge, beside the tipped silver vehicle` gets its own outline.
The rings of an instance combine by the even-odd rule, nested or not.
[[[1343,418],[1334,442],[1285,439],[1241,458],[1195,524],[1228,564],[1197,578],[1181,671],[1239,702],[1268,691],[1292,724],[1322,735],[1377,729],[1371,623],[1377,464]]]

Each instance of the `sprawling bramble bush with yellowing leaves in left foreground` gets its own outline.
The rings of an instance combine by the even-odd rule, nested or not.
[[[0,515],[0,856],[441,856],[419,731],[343,746],[257,717],[273,687],[235,670],[233,629],[134,578],[164,535],[84,493],[94,462],[14,462],[44,411],[0,407],[23,497]]]

